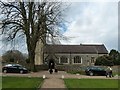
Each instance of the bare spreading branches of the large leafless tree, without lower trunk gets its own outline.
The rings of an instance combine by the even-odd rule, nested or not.
[[[36,39],[36,41],[45,39],[47,33],[51,36],[59,36],[60,34],[55,32],[59,29],[56,27],[63,20],[64,9],[61,9],[61,6],[62,2],[47,2],[47,0],[39,3],[1,3],[2,14],[5,15],[2,19],[3,32],[8,32],[9,29],[14,29],[15,33],[23,30],[27,38]]]

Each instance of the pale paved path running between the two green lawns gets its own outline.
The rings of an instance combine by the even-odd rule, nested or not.
[[[43,76],[46,76],[46,79],[44,80],[42,87],[40,90],[44,89],[53,89],[53,88],[61,88],[66,89],[64,81],[63,81],[63,75],[66,74],[65,72],[59,72],[59,73],[53,73],[49,74],[49,72],[44,72]]]

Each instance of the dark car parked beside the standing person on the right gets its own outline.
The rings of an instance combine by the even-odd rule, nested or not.
[[[93,75],[105,76],[106,70],[102,67],[91,66],[86,68],[85,73],[90,76],[93,76]]]

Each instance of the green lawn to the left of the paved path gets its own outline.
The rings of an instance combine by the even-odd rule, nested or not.
[[[37,77],[3,77],[2,88],[3,90],[5,88],[29,88],[36,90],[36,88],[41,86],[42,82],[43,79]]]

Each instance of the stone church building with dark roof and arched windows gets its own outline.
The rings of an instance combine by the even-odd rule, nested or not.
[[[107,55],[104,44],[100,45],[46,45],[37,44],[35,64],[48,64],[50,59],[56,65],[94,65],[96,58]]]

